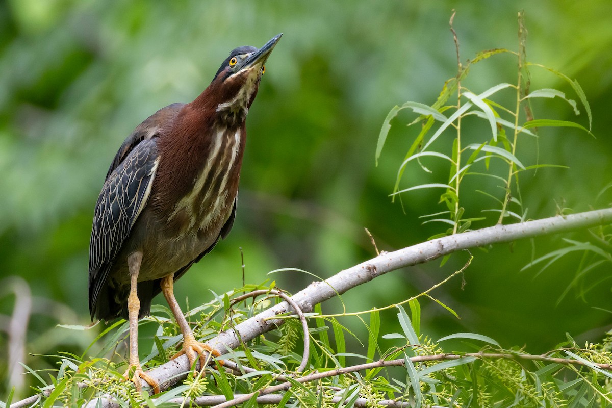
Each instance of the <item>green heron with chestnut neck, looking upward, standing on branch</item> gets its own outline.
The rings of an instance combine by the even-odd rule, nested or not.
[[[245,119],[281,35],[259,50],[231,51],[200,96],[166,106],[138,125],[108,169],[89,243],[89,311],[92,320],[129,320],[126,376],[139,390],[140,379],[157,388],[138,358],[138,319],[150,313],[159,292],[184,338],[174,357],[187,354],[193,366],[200,355],[204,368],[204,351],[218,356],[194,338],[173,284],[234,223]]]

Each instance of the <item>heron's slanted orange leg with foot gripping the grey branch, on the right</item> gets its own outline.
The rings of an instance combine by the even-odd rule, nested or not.
[[[179,328],[181,328],[181,333],[183,335],[183,349],[179,351],[172,358],[179,357],[179,355],[187,354],[187,358],[189,359],[190,366],[193,367],[193,364],[200,355],[200,369],[204,370],[206,367],[206,352],[214,355],[215,357],[219,357],[220,353],[217,350],[211,349],[210,346],[204,343],[200,343],[196,341],[193,336],[193,331],[189,324],[187,323],[187,319],[185,319],[185,315],[182,313],[181,308],[179,307],[179,303],[176,302],[176,298],[174,297],[174,274],[168,275],[162,279],[162,293],[170,306],[170,310],[174,314],[174,318],[176,319]],[[223,360],[220,360],[220,363],[223,365]]]

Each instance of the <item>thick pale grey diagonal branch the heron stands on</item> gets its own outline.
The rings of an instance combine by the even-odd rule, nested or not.
[[[517,239],[569,232],[608,223],[612,223],[612,209],[593,210],[517,224],[498,224],[476,231],[462,232],[461,234],[412,245],[412,247],[401,250],[381,253],[376,258],[342,270],[327,280],[311,283],[305,289],[293,295],[291,299],[304,313],[308,313],[313,310],[317,303],[341,295],[349,289],[369,282],[387,272],[432,261],[446,254],[493,243],[512,242]],[[222,354],[230,349],[236,349],[240,346],[241,341],[249,341],[282,325],[284,320],[274,319],[274,317],[291,310],[292,308],[287,302],[278,303],[278,305],[272,306],[242,322],[233,330],[220,333],[207,341],[206,344],[214,347]],[[187,357],[182,355],[148,371],[147,374],[159,382],[161,390],[165,390],[184,379],[189,371],[190,366]],[[143,382],[143,388],[145,387],[147,387],[147,384]],[[100,405],[102,407],[111,406],[110,401],[105,398],[101,398],[101,401],[97,402],[102,402]],[[91,401],[90,403],[96,402]]]

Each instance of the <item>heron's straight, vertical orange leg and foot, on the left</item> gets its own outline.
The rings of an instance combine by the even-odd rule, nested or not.
[[[151,376],[144,373],[138,358],[138,312],[140,311],[140,300],[136,294],[136,283],[138,282],[138,273],[140,272],[140,264],[143,261],[143,253],[135,252],[127,257],[127,264],[130,268],[130,296],[127,298],[127,313],[130,320],[130,361],[125,378],[132,380],[136,385],[136,390],[142,392],[140,379],[143,379],[147,384],[153,387],[155,394],[159,393],[159,383]]]

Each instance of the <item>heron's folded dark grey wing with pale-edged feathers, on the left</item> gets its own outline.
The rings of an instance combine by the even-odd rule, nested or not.
[[[111,319],[116,314],[111,299],[100,292],[108,291],[106,279],[114,258],[133,224],[146,206],[159,163],[156,137],[181,110],[174,103],[138,125],[125,139],[108,169],[106,181],[95,204],[94,222],[89,242],[89,312],[92,319]],[[102,304],[103,303],[103,304]]]

